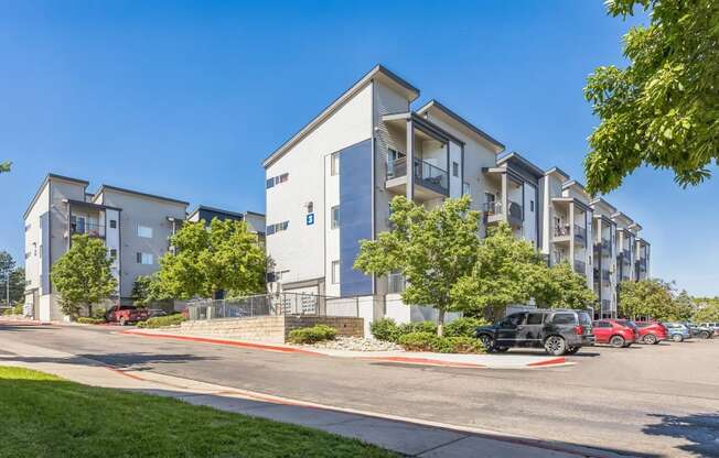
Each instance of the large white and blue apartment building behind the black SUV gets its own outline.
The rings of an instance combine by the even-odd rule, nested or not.
[[[507,222],[550,264],[569,262],[594,287],[595,231],[605,230],[583,186],[518,153],[500,156],[501,142],[437,100],[412,109],[419,94],[376,66],[265,160],[271,290],[358,296],[366,325],[434,318],[431,308],[401,304],[401,275],[353,269],[360,240],[389,229],[399,195],[427,208],[470,195],[483,215],[480,236]]]

